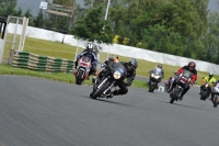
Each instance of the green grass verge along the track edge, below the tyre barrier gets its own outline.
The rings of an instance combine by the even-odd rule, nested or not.
[[[23,68],[15,68],[10,65],[0,65],[0,75],[15,75],[15,76],[30,76],[30,77],[37,77],[44,79],[50,79],[56,81],[62,81],[68,83],[74,83],[76,78],[72,74],[64,74],[64,72],[39,72],[30,69]],[[91,79],[85,80],[84,85],[91,85]],[[132,87],[137,88],[148,88],[146,81],[134,81]]]

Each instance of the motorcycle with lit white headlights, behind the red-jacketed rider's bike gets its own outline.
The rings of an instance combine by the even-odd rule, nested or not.
[[[149,92],[153,92],[154,89],[158,89],[158,83],[160,82],[162,78],[160,68],[155,68],[152,71],[150,71],[150,80],[148,82],[149,85]]]

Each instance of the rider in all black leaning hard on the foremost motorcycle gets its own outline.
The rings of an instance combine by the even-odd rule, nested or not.
[[[131,86],[132,80],[136,77],[136,69],[138,67],[138,61],[135,58],[131,58],[128,63],[126,61],[120,61],[119,64],[124,65],[127,71],[126,79],[127,81],[122,81],[118,83],[118,87],[120,89],[115,90],[113,94],[110,96],[110,98],[113,98],[113,96],[118,96],[118,94],[126,94],[128,92],[128,87]],[[99,79],[102,79],[103,76],[111,70],[112,66],[108,65],[105,67],[106,69],[102,71],[102,74],[99,75]]]

